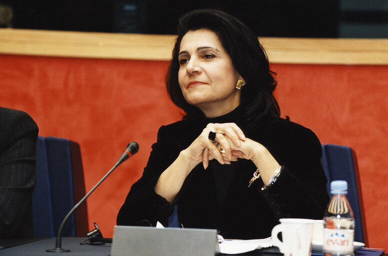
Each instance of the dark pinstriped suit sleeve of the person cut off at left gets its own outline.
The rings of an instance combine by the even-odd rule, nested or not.
[[[25,112],[1,107],[0,122],[0,237],[33,236],[38,127]]]

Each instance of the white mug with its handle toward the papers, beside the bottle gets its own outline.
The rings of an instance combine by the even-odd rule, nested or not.
[[[313,219],[280,218],[280,224],[272,228],[272,244],[285,256],[309,256],[314,225]],[[277,238],[281,232],[282,240]]]

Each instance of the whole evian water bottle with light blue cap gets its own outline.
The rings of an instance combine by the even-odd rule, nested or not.
[[[347,182],[330,183],[331,199],[323,216],[323,255],[354,255],[354,217],[346,198]]]

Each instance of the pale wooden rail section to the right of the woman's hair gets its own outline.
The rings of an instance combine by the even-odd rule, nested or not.
[[[388,64],[388,39],[261,38],[272,63]]]

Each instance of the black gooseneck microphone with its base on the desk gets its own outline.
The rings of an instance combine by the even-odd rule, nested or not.
[[[58,229],[58,233],[56,235],[56,239],[55,239],[55,247],[52,248],[52,249],[46,249],[46,251],[48,252],[67,252],[67,251],[70,251],[69,249],[63,249],[61,246],[61,242],[62,242],[62,239],[61,239],[61,236],[60,236],[60,233],[62,231],[62,228],[63,228],[63,225],[64,223],[66,222],[66,220],[68,219],[68,217],[78,208],[78,206],[86,200],[86,198],[94,191],[94,189],[97,188],[97,186],[99,186],[99,184],[101,184],[101,182],[118,166],[120,165],[123,161],[125,161],[126,159],[128,159],[130,156],[132,156],[133,154],[135,154],[137,152],[137,150],[139,149],[139,145],[137,144],[137,142],[135,141],[132,141],[130,143],[128,143],[128,145],[126,146],[124,152],[121,154],[120,158],[117,160],[117,162],[113,165],[113,167],[97,182],[97,184],[95,184],[93,186],[93,188],[90,189],[89,192],[87,192],[87,194],[85,194],[85,196],[82,197],[82,199],[79,200],[79,202],[77,202],[77,204],[74,205],[74,207],[72,207],[72,209],[67,213],[67,215],[64,217],[64,219],[62,220],[62,223],[60,224],[59,226],[59,229]]]

